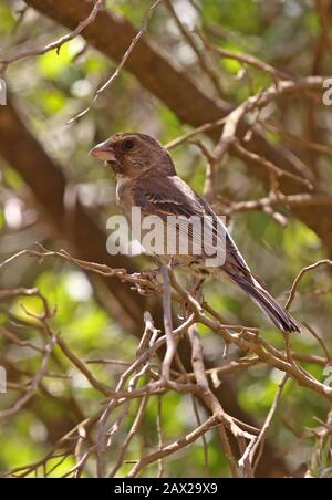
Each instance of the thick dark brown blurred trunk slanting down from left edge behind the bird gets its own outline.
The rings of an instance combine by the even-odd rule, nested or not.
[[[105,263],[112,268],[125,268],[129,272],[138,271],[133,259],[124,256],[114,257],[106,252],[105,233],[80,204],[76,206],[69,230],[63,205],[65,178],[60,167],[48,156],[42,145],[24,125],[12,105],[11,98],[0,113],[0,155],[21,174],[34,194],[40,212],[48,218],[54,238],[58,235],[61,239],[65,239],[70,246],[68,250],[73,256],[83,260]],[[131,334],[141,338],[145,310],[151,310],[156,324],[162,326],[163,312],[159,302],[155,303],[154,310],[152,310],[152,305],[143,296],[131,291],[125,283],[113,279],[105,279],[103,283],[107,287],[112,300],[117,302],[118,308],[122,308],[123,316],[131,321]],[[123,324],[126,327],[127,321],[124,317]],[[191,352],[187,338],[179,345],[179,355],[186,369],[190,372]],[[211,368],[214,365],[206,361],[206,367]],[[229,382],[221,384],[214,392],[227,413],[249,425],[256,425],[252,418],[239,407]],[[282,458],[278,456],[269,442],[266,445],[258,475],[260,477],[284,477],[289,475]]]

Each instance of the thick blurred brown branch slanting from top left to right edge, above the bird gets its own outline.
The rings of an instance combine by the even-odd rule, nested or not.
[[[91,0],[25,0],[25,3],[71,30],[86,19],[92,9]],[[136,34],[137,30],[125,18],[110,10],[101,12],[95,22],[83,32],[83,37],[91,45],[116,62],[122,60]],[[179,119],[189,125],[199,126],[217,121],[228,114],[232,107],[229,103],[206,95],[188,77],[186,70],[148,35],[142,37],[125,67],[146,90],[163,101]],[[242,124],[240,135],[245,132],[246,124]],[[216,138],[216,134],[218,131],[214,131],[210,135]],[[248,148],[280,168],[293,171],[293,166],[288,158],[260,134],[253,134]],[[250,165],[250,173],[259,179],[268,180],[267,171],[253,164]],[[289,178],[282,179],[281,188],[286,195],[299,190],[299,186]],[[314,194],[324,195],[321,190]],[[332,208],[303,207],[294,209],[293,213],[317,232],[329,254],[332,256]]]

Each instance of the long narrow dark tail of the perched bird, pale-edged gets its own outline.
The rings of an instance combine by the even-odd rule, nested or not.
[[[255,278],[243,275],[231,277],[259,308],[268,315],[274,325],[286,333],[299,332],[301,326],[299,323],[264,290]]]

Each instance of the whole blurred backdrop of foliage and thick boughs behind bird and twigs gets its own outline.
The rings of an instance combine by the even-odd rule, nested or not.
[[[118,77],[89,113],[69,125],[68,121],[90,105],[95,90],[116,70],[151,1],[110,0],[106,4],[111,19],[107,31],[103,18],[83,37],[65,43],[59,54],[50,51],[33,55],[33,51],[75,28],[92,3],[0,1],[0,60],[32,51],[31,56],[8,66],[8,104],[0,106],[1,262],[22,250],[35,249],[38,241],[48,249],[64,248],[75,257],[113,268],[136,271],[154,267],[142,256],[107,256],[106,220],[118,213],[115,184],[112,174],[89,157],[90,148],[116,132],[127,131],[147,133],[167,144],[195,126],[218,119],[225,110],[273,83],[268,73],[209,52],[193,34],[194,29],[198,28],[215,45],[255,55],[292,79],[332,73],[331,1],[177,0],[170,7],[162,2],[148,21],[144,43],[134,49]],[[194,46],[187,37],[195,41]],[[204,54],[205,63],[195,48]],[[205,71],[203,64],[210,70]],[[298,175],[310,177],[314,189],[328,196],[332,195],[331,110],[322,105],[320,96],[301,93],[273,102],[259,117],[268,150],[273,160],[280,160],[278,166],[288,165]],[[219,134],[199,138],[211,148]],[[324,147],[308,148],[308,142]],[[185,142],[170,154],[178,174],[203,194],[206,159],[199,148]],[[248,263],[284,303],[301,269],[332,254],[332,207],[280,207],[282,223],[280,218],[260,210],[232,213],[232,204],[268,195],[261,170],[230,155],[220,168],[217,192]],[[290,181],[283,188],[286,194],[304,190]],[[1,267],[0,293],[18,288],[38,288],[50,306],[56,306],[52,327],[61,332],[82,361],[117,362],[89,364],[94,376],[110,387],[116,385],[124,366],[133,360],[144,310],[155,313],[158,321],[158,298],[145,299],[129,285],[89,275],[55,258],[39,262],[21,256]],[[282,347],[282,336],[235,287],[210,282],[205,285],[205,299],[229,324],[260,327],[266,340]],[[331,306],[331,269],[322,267],[301,281],[292,314],[309,323],[330,348]],[[27,311],[38,314],[41,310],[37,296],[0,300],[0,365],[6,367],[11,384],[9,392],[0,395],[1,410],[12,407],[40,366],[40,353],[27,342],[42,345],[42,337],[35,319]],[[13,341],[8,332],[23,344]],[[200,333],[210,365],[226,363],[221,338],[207,329],[200,329]],[[293,347],[301,354],[325,355],[307,330],[293,340]],[[231,360],[239,355],[236,350],[229,354]],[[304,366],[324,381],[323,366]],[[220,400],[228,412],[259,425],[272,404],[280,373],[259,364],[220,377]],[[104,397],[58,352],[37,394],[19,412],[0,420],[0,470],[40,460],[66,431],[96,412]],[[308,429],[318,427],[319,419],[325,421],[328,403],[290,382],[282,405],[270,430],[261,475],[301,476],[309,469],[320,477],[331,467],[330,445],[315,455],[318,440]],[[133,424],[136,403],[128,412],[110,450],[110,463]],[[157,415],[158,402],[151,398],[126,459],[137,459],[158,446]],[[165,442],[176,440],[195,425],[190,397],[173,392],[163,397]],[[208,470],[198,440],[165,461],[165,476],[227,477],[229,469],[218,438],[209,433],[207,439]],[[70,455],[50,475],[60,477],[74,463]],[[124,465],[118,476],[127,471]],[[94,475],[93,463],[84,473]],[[144,475],[156,476],[157,465],[147,467]]]

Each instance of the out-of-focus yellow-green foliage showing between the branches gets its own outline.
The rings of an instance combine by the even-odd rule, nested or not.
[[[149,0],[110,0],[107,7],[125,15],[139,28],[151,3]],[[184,9],[187,13],[189,29],[194,28],[194,24],[198,25],[220,48],[230,52],[252,54],[297,76],[311,73],[312,55],[321,33],[321,22],[312,2],[181,0],[174,3],[177,9]],[[18,19],[15,4],[17,2],[0,3],[0,38],[1,42],[6,42],[6,50],[10,46],[11,52],[20,51],[21,45],[31,41],[32,44],[35,41],[38,46],[42,46],[45,34],[50,40],[59,38],[59,25],[53,25],[40,17],[28,20],[29,24],[24,24],[28,21],[23,21],[23,31],[15,32]],[[194,22],[193,27],[190,20]],[[175,30],[165,6],[159,6],[154,12],[148,24],[148,33],[154,43],[166,51],[175,64],[183,65],[186,75],[217,101],[210,79],[196,64],[195,54],[193,55],[190,50],[184,51],[185,42]],[[8,41],[10,43],[7,43]],[[35,206],[33,192],[27,188],[22,177],[1,158],[1,261],[18,250],[31,247],[35,239],[43,241],[48,247],[68,248],[65,238],[71,231],[72,218],[75,217],[76,199],[84,206],[89,217],[102,228],[105,227],[107,216],[118,211],[115,207],[114,183],[110,170],[103,169],[87,156],[90,147],[96,140],[120,131],[138,131],[155,135],[166,144],[191,129],[181,123],[165,103],[149,94],[126,70],[121,72],[112,87],[102,94],[83,119],[71,126],[65,125],[69,118],[92,102],[94,90],[116,69],[116,62],[110,62],[91,45],[85,48],[84,43],[84,39],[79,37],[64,44],[59,54],[52,51],[15,63],[8,70],[8,83],[15,95],[18,108],[22,112],[27,126],[35,134],[68,179],[64,198],[69,205],[63,217],[63,235],[53,235],[48,226],[49,213],[44,213]],[[205,55],[214,65],[225,91],[225,98],[230,105],[241,103],[272,83],[270,75],[248,64],[245,65],[248,73],[238,79],[242,69],[239,62],[207,52]],[[329,66],[331,54],[323,59],[322,66],[326,69],[324,73],[331,73]],[[156,73],[148,75],[149,79],[158,79],[158,69],[155,71]],[[172,88],[172,92],[176,90]],[[195,110],[195,103],[191,105]],[[273,119],[280,118],[284,127],[291,125],[290,132],[299,128],[305,131],[305,134],[310,128],[307,112],[307,108],[303,110],[303,106],[299,105],[298,100],[288,102],[280,111],[277,106],[268,110],[272,123]],[[325,133],[323,128],[320,123],[320,134]],[[210,138],[203,135],[199,138],[211,148]],[[279,134],[267,132],[267,138],[272,146],[293,152]],[[19,139],[17,147],[20,147]],[[172,149],[170,155],[179,175],[201,195],[206,158],[197,146],[185,143]],[[315,157],[309,154],[308,157],[307,154],[303,155],[302,159],[310,168],[312,167],[312,171],[317,170],[319,176],[326,180],[328,189],[332,181],[330,160],[318,157],[317,162],[313,162]],[[250,168],[232,155],[224,160],[218,186],[221,202],[225,201],[224,198],[241,201],[267,196],[266,185],[253,177]],[[39,181],[46,181],[46,176],[48,173],[45,179]],[[300,186],[298,189],[301,192]],[[72,197],[69,196],[72,194]],[[6,202],[18,197],[23,206],[22,222],[19,227],[13,227],[8,221]],[[58,210],[59,207],[54,209]],[[320,237],[300,221],[295,211],[292,212],[288,207],[282,207],[281,211],[288,218],[287,228],[281,227],[263,211],[250,211],[234,215],[230,230],[252,271],[263,279],[280,303],[286,303],[291,284],[300,270],[328,256]],[[136,262],[143,267],[152,267],[151,261],[145,258],[137,258]],[[126,363],[131,363],[135,356],[138,341],[123,321],[122,312],[118,311],[122,304],[113,303],[112,295],[104,296],[98,283],[89,282],[86,275],[75,265],[64,265],[63,262],[51,259],[38,265],[35,260],[27,258],[12,262],[3,272],[0,270],[0,285],[1,290],[21,285],[37,287],[48,298],[51,309],[56,310],[51,321],[54,332],[61,335],[101,383],[112,388],[116,386],[127,367]],[[320,332],[330,348],[331,292],[331,274],[326,269],[320,269],[304,277],[292,304],[297,317],[310,320],[310,324]],[[231,283],[207,282],[204,298],[220,313],[225,323],[259,325],[263,338],[276,348],[284,348],[280,333]],[[40,320],[31,315],[43,313],[43,304],[39,298],[19,296],[6,303],[1,302],[0,306],[1,327],[13,329],[22,342],[33,342],[37,346],[44,345],[45,338]],[[180,308],[177,312],[181,314]],[[204,325],[199,325],[199,333],[208,358],[216,365],[222,365],[247,354],[231,350],[228,360],[225,361],[221,338]],[[301,336],[292,337],[291,342],[293,350],[302,355],[323,355],[320,344],[308,331]],[[0,346],[0,365],[6,357],[10,367],[10,382],[27,384],[31,379],[31,373],[35,373],[41,365],[41,353],[32,351],[27,345],[11,343],[1,334]],[[89,363],[100,360],[111,362]],[[116,365],[112,360],[121,361],[122,364]],[[21,372],[14,369],[15,365]],[[324,382],[323,366],[313,363],[301,363],[301,366],[318,381]],[[159,369],[157,358],[154,360],[153,367]],[[221,383],[234,387],[237,402],[248,414],[248,418],[256,419],[257,424],[261,425],[276,397],[280,372],[259,364],[222,378]],[[18,394],[18,390],[11,389],[10,394],[3,397],[0,395],[0,410],[13,405]],[[51,356],[48,376],[43,379],[37,396],[10,419],[0,419],[0,472],[40,460],[69,429],[89,418],[94,412],[98,412],[105,397],[92,387],[77,368],[73,367],[58,346]],[[138,403],[141,402],[132,400],[128,405],[127,417],[120,426],[114,446],[107,456],[112,463],[117,459],[118,450],[137,416]],[[331,476],[331,440],[318,442],[318,439],[308,439],[303,431],[315,428],[317,418],[324,420],[328,409],[323,398],[303,389],[294,382],[288,382],[282,405],[269,429],[268,438],[271,438],[278,455],[286,456],[291,466],[294,465],[294,469],[303,461],[304,454],[308,456],[309,451],[314,452],[309,467],[313,477]],[[117,412],[114,418],[121,410]],[[206,417],[205,412],[200,409],[201,421]],[[127,460],[137,460],[158,448],[157,419],[158,400],[157,397],[151,397],[139,433],[127,449],[125,456]],[[190,397],[175,392],[163,395],[164,444],[176,441],[196,426]],[[311,434],[309,436],[311,438]],[[95,435],[92,438],[95,439]],[[165,460],[165,476],[180,478],[203,477],[208,473],[211,477],[229,476],[228,462],[216,433],[208,433],[206,438],[208,471],[204,467],[203,440],[198,439],[191,447]],[[46,469],[51,471],[50,477],[61,477],[74,465],[72,457],[64,457],[63,461],[62,457],[59,457],[51,459]],[[131,467],[132,465],[124,465],[118,470],[117,477],[125,476]],[[158,465],[154,463],[144,469],[143,476],[156,476],[157,469]],[[39,469],[39,472],[42,473],[42,470]],[[95,475],[94,456],[85,475]]]

